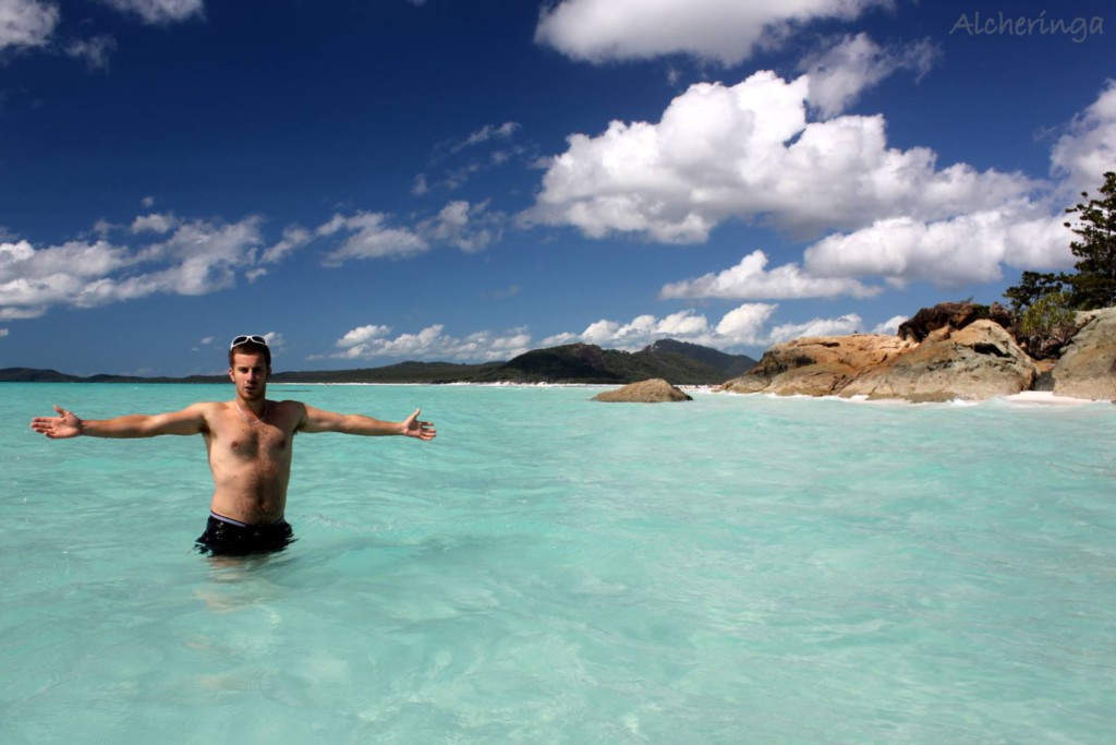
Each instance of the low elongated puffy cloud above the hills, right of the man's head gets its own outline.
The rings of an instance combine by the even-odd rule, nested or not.
[[[510,360],[531,348],[531,336],[525,328],[504,334],[488,331],[464,338],[449,336],[442,324],[423,328],[417,334],[391,337],[391,327],[377,324],[360,326],[337,341],[343,352],[329,355],[343,360],[401,359],[440,360],[446,362],[491,362]]]

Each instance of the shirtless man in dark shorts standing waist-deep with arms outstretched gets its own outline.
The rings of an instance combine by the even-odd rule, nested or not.
[[[267,341],[237,336],[229,345],[229,378],[237,385],[232,401],[89,421],[56,405],[57,417],[32,419],[31,429],[51,439],[202,434],[213,471],[213,502],[198,546],[203,553],[224,555],[279,551],[292,541],[283,514],[296,433],[402,434],[420,440],[436,434],[431,422],[419,421],[419,409],[401,422],[387,422],[321,411],[299,401],[269,401],[270,374]]]

